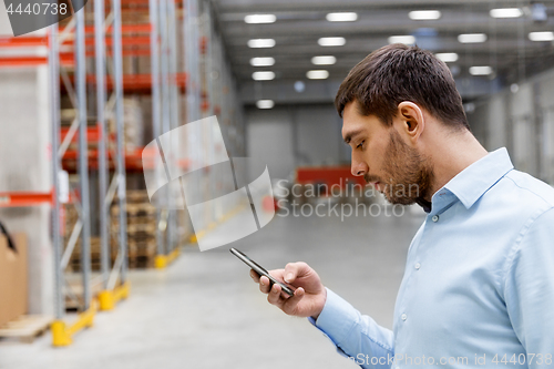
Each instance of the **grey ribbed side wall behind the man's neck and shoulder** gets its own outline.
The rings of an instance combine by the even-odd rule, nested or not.
[[[468,119],[489,151],[506,146],[517,170],[554,184],[554,70],[475,102]]]

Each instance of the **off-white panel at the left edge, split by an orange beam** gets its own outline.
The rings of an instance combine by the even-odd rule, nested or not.
[[[0,192],[50,192],[47,66],[0,70]],[[29,311],[53,311],[50,206],[0,208],[9,232],[28,236]]]

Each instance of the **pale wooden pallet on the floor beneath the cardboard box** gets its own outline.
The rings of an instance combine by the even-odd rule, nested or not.
[[[0,327],[0,338],[19,339],[32,344],[48,330],[53,317],[47,315],[22,315]]]

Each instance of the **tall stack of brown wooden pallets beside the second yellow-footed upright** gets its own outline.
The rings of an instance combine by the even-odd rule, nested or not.
[[[154,258],[156,256],[156,208],[148,202],[146,191],[129,191],[126,196],[129,267],[154,267]],[[113,257],[117,254],[120,230],[119,215],[120,207],[113,206]]]

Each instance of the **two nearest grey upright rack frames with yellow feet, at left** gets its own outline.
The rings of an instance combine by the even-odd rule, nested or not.
[[[63,79],[65,89],[70,94],[70,100],[78,110],[75,121],[64,137],[64,143],[72,140],[73,129],[79,125],[79,178],[80,178],[80,201],[73,197],[74,205],[79,213],[79,221],[73,228],[69,245],[63,249],[60,237],[60,203],[58,201],[59,183],[58,173],[61,168],[61,158],[65,154],[66,144],[60,145],[60,55],[59,43],[63,42],[58,38],[58,24],[50,28],[50,49],[49,49],[49,70],[51,84],[51,105],[52,105],[52,150],[58,155],[53,155],[52,177],[54,185],[53,201],[53,255],[54,255],[54,294],[55,294],[55,321],[52,324],[52,342],[54,346],[68,346],[72,341],[72,336],[82,328],[92,326],[98,306],[93,299],[91,290],[91,260],[90,260],[90,191],[89,191],[89,153],[88,153],[88,115],[86,115],[86,51],[85,51],[85,9],[74,14],[74,84],[73,89],[69,79]],[[122,24],[121,24],[121,4],[120,0],[112,0],[112,12],[107,19],[112,19],[109,24],[104,17],[103,0],[94,4],[94,41],[95,41],[95,82],[96,82],[96,103],[98,103],[98,132],[99,134],[99,191],[100,191],[100,224],[101,224],[101,283],[103,290],[99,294],[100,308],[104,310],[112,309],[115,303],[129,295],[129,283],[126,281],[126,213],[125,213],[125,153],[123,142],[123,71],[122,71]],[[66,25],[64,33],[71,32],[73,22]],[[114,153],[116,161],[116,172],[112,178],[111,191],[107,191],[107,155],[106,155],[106,102],[105,102],[105,29],[111,27],[113,33],[113,68],[112,79],[114,85],[114,115],[116,121],[116,150]],[[64,74],[62,73],[62,78]],[[73,95],[74,92],[74,95]],[[109,206],[112,203],[114,191],[117,189],[120,206],[120,247],[113,268],[110,270],[110,236]],[[83,286],[83,304],[81,314],[76,322],[66,326],[63,321],[64,316],[64,296],[63,286],[64,270],[68,265],[71,253],[76,244],[76,235],[81,235],[81,273]],[[63,255],[62,255],[63,253]],[[117,280],[121,284],[117,286]],[[69,287],[69,286],[68,286]]]

